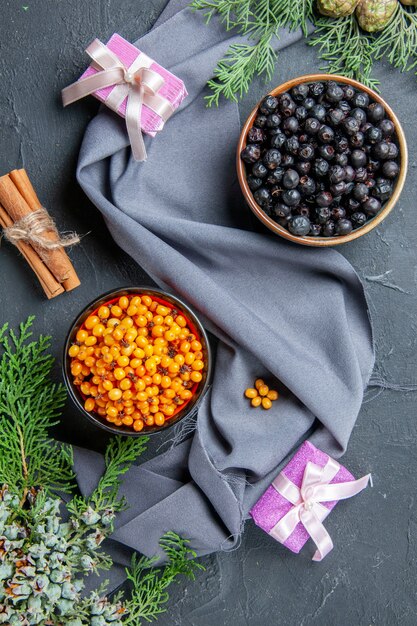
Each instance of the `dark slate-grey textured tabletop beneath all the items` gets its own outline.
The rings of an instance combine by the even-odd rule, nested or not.
[[[74,170],[92,98],[63,111],[59,92],[86,64],[85,46],[117,31],[134,40],[146,32],[165,0],[3,0],[0,25],[0,172],[24,166],[61,229],[89,233],[73,250],[82,286],[46,301],[8,244],[0,249],[0,323],[36,314],[36,331],[51,333],[58,357],[77,312],[100,293],[150,283],[112,242]],[[274,85],[317,70],[303,43],[280,56]],[[365,281],[377,347],[377,367],[391,383],[416,384],[417,366],[417,84],[379,66],[382,94],[402,120],[410,169],[391,216],[366,238],[341,248]],[[241,107],[244,119],[267,90],[256,84]],[[413,195],[414,192],[414,195]],[[325,323],[325,321],[323,322]],[[370,626],[417,623],[417,427],[414,393],[368,392],[344,463],[372,471],[374,489],[340,504],[326,521],[336,547],[312,563],[309,545],[297,557],[248,523],[239,550],[205,559],[206,572],[173,592],[160,624],[181,626]],[[68,404],[58,436],[100,449],[104,436]],[[162,438],[152,440],[155,453]]]

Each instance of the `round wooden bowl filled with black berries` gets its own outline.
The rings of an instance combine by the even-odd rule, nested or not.
[[[241,189],[274,233],[307,246],[365,235],[395,206],[407,144],[393,110],[332,74],[290,80],[247,119],[237,148]]]

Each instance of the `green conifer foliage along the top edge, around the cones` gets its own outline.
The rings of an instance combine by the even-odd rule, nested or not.
[[[343,74],[378,90],[372,76],[374,62],[386,58],[401,71],[417,68],[416,8],[397,3],[395,13],[384,30],[369,34],[363,31],[355,14],[327,18],[317,13],[314,0],[193,0],[191,7],[210,21],[218,15],[227,30],[232,28],[247,37],[247,43],[234,44],[227,50],[208,82],[211,93],[207,106],[218,106],[220,98],[237,102],[253,78],[272,78],[278,57],[271,45],[279,29],[301,29],[308,37],[311,22],[316,29],[309,44],[317,46],[325,70]]]

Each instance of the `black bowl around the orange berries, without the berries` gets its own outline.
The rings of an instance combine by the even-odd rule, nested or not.
[[[176,420],[172,420],[171,423],[170,423],[171,420],[168,420],[168,423],[166,425],[164,424],[163,426],[152,427],[152,429],[144,428],[140,432],[136,432],[134,430],[129,430],[129,427],[127,426],[125,428],[122,428],[120,426],[112,426],[111,424],[106,423],[99,415],[96,415],[94,413],[91,413],[85,410],[82,404],[81,398],[79,397],[79,394],[76,392],[74,385],[71,382],[71,378],[70,378],[71,374],[70,374],[70,369],[69,369],[70,358],[68,356],[68,348],[71,344],[74,330],[77,328],[77,326],[81,325],[81,323],[83,323],[84,321],[82,320],[82,318],[85,316],[85,319],[86,319],[88,317],[88,314],[92,310],[95,310],[97,306],[99,305],[99,303],[104,304],[104,302],[110,300],[112,297],[117,297],[117,296],[120,297],[128,293],[137,293],[137,295],[140,295],[140,292],[144,292],[144,295],[146,292],[146,294],[149,294],[150,296],[152,296],[152,294],[155,294],[156,296],[161,297],[161,299],[167,299],[167,302],[170,302],[169,299],[171,299],[174,301],[173,303],[178,304],[178,308],[181,310],[181,312],[184,312],[187,316],[189,316],[191,322],[196,326],[200,334],[200,338],[203,338],[204,340],[203,350],[205,351],[206,377],[199,391],[199,395],[197,399],[194,402],[192,402],[192,399],[190,399],[189,403],[184,407],[183,409],[184,415],[177,418]],[[74,321],[72,322],[67,332],[67,335],[64,341],[62,373],[63,373],[64,383],[65,383],[65,386],[67,388],[67,391],[71,400],[73,401],[75,406],[81,411],[84,417],[88,419],[89,422],[91,422],[98,428],[101,428],[102,430],[105,430],[108,433],[111,433],[113,435],[122,435],[122,436],[127,436],[127,437],[148,437],[151,435],[156,435],[158,433],[166,432],[167,430],[173,428],[174,426],[182,422],[186,417],[188,417],[193,411],[195,411],[198,408],[204,396],[206,395],[208,387],[210,385],[212,367],[213,367],[213,362],[212,362],[212,350],[210,346],[210,341],[209,341],[207,332],[203,324],[201,323],[200,319],[196,315],[196,313],[181,298],[179,298],[178,296],[174,296],[173,294],[168,293],[167,291],[164,291],[163,289],[159,289],[158,287],[148,287],[146,285],[141,285],[137,287],[132,287],[132,286],[119,287],[117,289],[111,289],[110,291],[107,291],[101,294],[100,296],[94,298],[94,300],[92,300],[89,304],[83,307],[83,309],[75,317]],[[181,411],[179,412],[179,415],[180,413]]]

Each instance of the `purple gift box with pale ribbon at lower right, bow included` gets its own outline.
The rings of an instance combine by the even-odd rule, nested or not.
[[[257,526],[298,553],[311,537],[317,546],[314,561],[333,548],[323,521],[339,500],[367,486],[371,475],[355,480],[328,454],[305,441],[278,474],[250,514]]]

